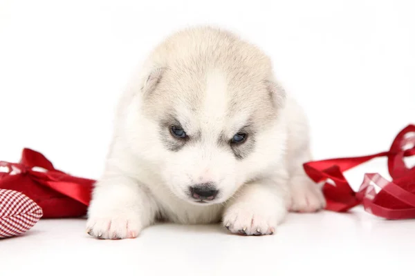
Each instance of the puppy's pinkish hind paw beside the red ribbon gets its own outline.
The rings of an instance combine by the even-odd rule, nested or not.
[[[291,212],[313,213],[326,207],[322,190],[311,181],[291,184]]]

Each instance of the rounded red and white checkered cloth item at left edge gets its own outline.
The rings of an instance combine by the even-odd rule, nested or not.
[[[25,233],[42,215],[42,208],[26,195],[0,189],[0,238]]]

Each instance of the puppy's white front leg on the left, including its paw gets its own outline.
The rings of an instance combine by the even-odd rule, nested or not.
[[[154,199],[134,179],[103,177],[93,190],[86,232],[100,239],[135,238],[154,222],[157,210]]]

